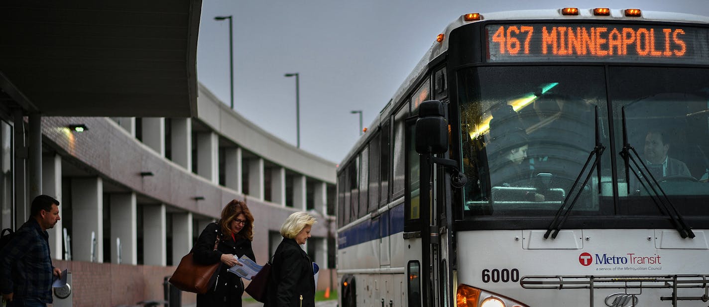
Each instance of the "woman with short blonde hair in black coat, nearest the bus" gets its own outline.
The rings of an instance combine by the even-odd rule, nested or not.
[[[300,247],[311,238],[314,223],[313,216],[296,212],[281,226],[283,240],[273,256],[264,307],[315,306],[313,262]]]

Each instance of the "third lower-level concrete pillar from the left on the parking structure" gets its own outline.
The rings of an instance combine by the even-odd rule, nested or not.
[[[118,263],[116,238],[121,238],[121,263],[138,264],[138,208],[135,193],[111,194],[111,263]]]

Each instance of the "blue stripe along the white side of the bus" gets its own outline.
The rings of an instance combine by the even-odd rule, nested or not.
[[[403,204],[391,208],[390,211],[376,218],[370,218],[352,228],[338,232],[337,248],[379,240],[380,233],[383,237],[403,233]]]

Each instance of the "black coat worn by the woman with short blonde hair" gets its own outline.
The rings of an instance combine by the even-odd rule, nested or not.
[[[264,307],[315,306],[313,262],[296,240],[284,238],[278,245],[266,291]]]

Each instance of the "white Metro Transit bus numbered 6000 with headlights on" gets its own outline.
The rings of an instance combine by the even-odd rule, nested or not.
[[[707,306],[709,18],[435,39],[337,169],[340,306]]]

